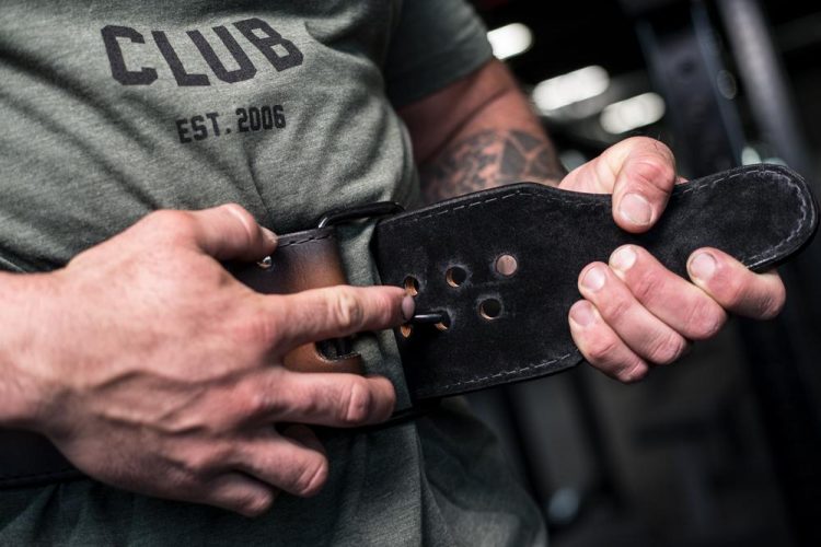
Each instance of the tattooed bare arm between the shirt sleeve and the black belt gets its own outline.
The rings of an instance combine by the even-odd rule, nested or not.
[[[418,113],[406,116],[412,135],[414,124],[439,128],[438,139],[437,131],[416,131],[423,138],[414,142],[425,199],[435,202],[522,181],[558,184],[566,173],[507,69],[494,61],[465,84],[467,91],[439,101],[460,105],[463,116],[458,123],[446,117],[425,119]]]

